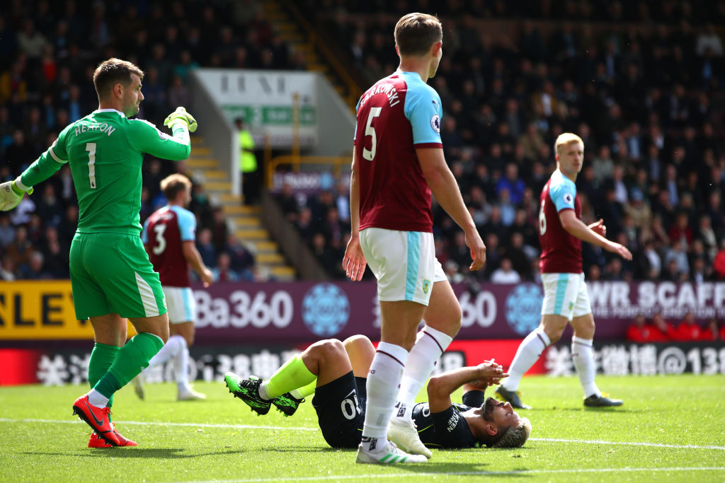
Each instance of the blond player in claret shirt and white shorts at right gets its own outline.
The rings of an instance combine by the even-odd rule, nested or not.
[[[518,346],[509,368],[510,377],[496,390],[501,400],[515,408],[528,409],[516,392],[523,374],[542,355],[544,348],[561,338],[566,324],[571,324],[571,356],[584,390],[584,406],[621,406],[595,384],[596,366],[592,341],[595,323],[589,303],[587,284],[581,268],[581,241],[599,245],[626,260],[632,254],[619,243],[605,238],[604,220],[587,226],[581,221],[581,203],[576,195],[576,175],[584,163],[584,142],[578,135],[564,133],[554,145],[557,169],[544,185],[539,198],[539,242],[542,255],[539,267],[544,284],[542,322]]]

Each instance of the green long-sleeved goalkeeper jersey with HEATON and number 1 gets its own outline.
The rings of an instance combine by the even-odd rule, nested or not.
[[[99,109],[62,130],[20,181],[36,185],[68,163],[78,194],[78,232],[140,235],[144,153],[178,161],[190,152],[188,130],[181,124],[173,126],[172,137],[150,122]]]

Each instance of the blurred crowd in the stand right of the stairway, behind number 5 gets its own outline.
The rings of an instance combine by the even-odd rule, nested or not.
[[[334,35],[331,44],[350,46],[365,88],[397,67],[389,35],[397,15],[423,8],[306,7],[318,12],[318,30]],[[589,280],[725,279],[725,72],[713,28],[725,2],[456,1],[435,9],[444,56],[430,82],[443,101],[446,159],[488,247],[479,280],[539,277],[539,193],[555,169],[553,140],[566,131],[585,143],[577,180],[584,221],[604,219],[608,238],[634,253],[626,262],[584,243]],[[527,20],[495,29],[516,17]],[[297,205],[289,193],[280,199],[328,271],[344,277],[344,193],[298,197]],[[435,205],[434,217],[439,261],[453,280],[469,277],[463,233]]]

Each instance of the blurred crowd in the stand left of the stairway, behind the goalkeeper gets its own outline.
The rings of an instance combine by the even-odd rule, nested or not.
[[[186,80],[196,67],[299,68],[299,58],[289,55],[252,1],[12,0],[0,13],[0,39],[1,181],[14,178],[63,127],[97,108],[92,75],[111,56],[146,72],[138,117],[157,125],[188,104]],[[141,222],[165,204],[159,182],[173,172],[193,179],[183,162],[146,157]],[[215,277],[254,280],[252,253],[228,232],[223,213],[196,183],[189,209],[198,219],[199,251]],[[0,280],[69,277],[77,222],[65,166],[17,209],[0,214]]]

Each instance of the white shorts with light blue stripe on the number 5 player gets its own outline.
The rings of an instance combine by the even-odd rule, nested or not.
[[[447,280],[436,259],[433,233],[365,228],[360,246],[378,279],[378,299],[428,305],[435,282]]]

